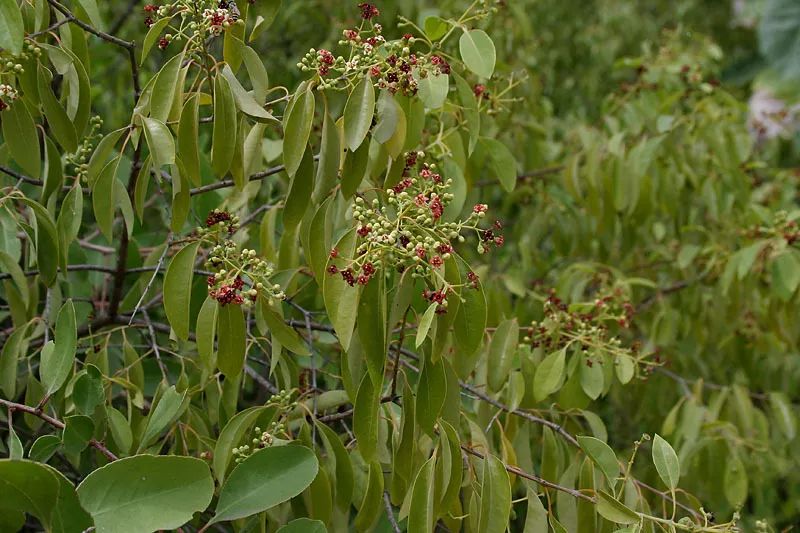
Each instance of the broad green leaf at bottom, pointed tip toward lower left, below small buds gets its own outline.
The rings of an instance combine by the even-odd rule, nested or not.
[[[219,494],[209,524],[266,511],[303,492],[319,463],[304,446],[273,446],[255,452],[233,469]]]

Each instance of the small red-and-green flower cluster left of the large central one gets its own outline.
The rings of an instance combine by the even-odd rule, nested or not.
[[[230,238],[238,227],[238,217],[214,210],[206,218],[206,227],[197,229],[203,242],[211,246],[206,260],[206,268],[214,271],[207,278],[209,296],[220,305],[250,306],[259,295],[270,303],[282,300],[286,295],[280,285],[269,282],[272,265],[258,258],[255,250],[239,251]]]

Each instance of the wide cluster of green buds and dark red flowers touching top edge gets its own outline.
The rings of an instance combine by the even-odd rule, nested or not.
[[[410,33],[387,41],[382,26],[372,20],[380,14],[374,5],[361,3],[358,8],[360,26],[344,30],[339,41],[349,47],[347,54],[336,56],[312,48],[297,64],[304,72],[317,74],[320,89],[345,90],[369,77],[380,89],[412,96],[420,78],[450,74],[450,64],[441,55],[411,50],[416,39]]]

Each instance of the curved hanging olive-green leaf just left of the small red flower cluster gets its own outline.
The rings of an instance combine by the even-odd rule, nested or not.
[[[189,338],[192,277],[199,246],[199,242],[193,242],[181,248],[164,274],[164,311],[175,335],[183,340]]]

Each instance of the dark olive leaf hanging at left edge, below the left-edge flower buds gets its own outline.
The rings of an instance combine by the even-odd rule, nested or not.
[[[0,0],[0,18],[3,16],[2,3]],[[3,22],[0,21],[0,35],[3,34],[2,24]],[[5,48],[5,46],[0,44],[0,48]],[[11,158],[30,177],[38,179],[42,175],[39,135],[36,132],[36,123],[22,101],[9,106],[3,112],[2,125],[3,140],[8,146]]]

